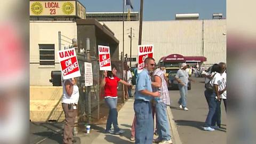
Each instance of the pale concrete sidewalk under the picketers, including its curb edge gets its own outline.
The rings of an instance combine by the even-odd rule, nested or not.
[[[122,135],[105,134],[104,131],[106,124],[92,125],[90,134],[85,134],[85,132],[78,133],[78,137],[81,139],[81,143],[134,143],[133,141],[130,141],[131,126],[134,117],[133,102],[134,99],[129,99],[118,112],[118,124],[119,127],[125,131],[125,133]],[[171,119],[170,126],[172,127],[171,135],[173,143],[180,144],[181,141],[173,121],[170,107],[167,107],[167,112],[169,119]],[[154,138],[157,138],[157,136],[154,135]]]

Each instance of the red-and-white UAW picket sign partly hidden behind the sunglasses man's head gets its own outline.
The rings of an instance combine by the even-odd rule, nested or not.
[[[138,72],[140,73],[145,66],[146,58],[153,58],[154,45],[139,45],[138,46]]]

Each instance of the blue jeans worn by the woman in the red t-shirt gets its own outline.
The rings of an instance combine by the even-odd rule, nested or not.
[[[105,102],[107,103],[109,107],[109,114],[108,114],[108,120],[106,124],[106,131],[111,130],[111,125],[113,123],[114,126],[114,132],[119,131],[118,123],[117,123],[117,98],[106,98]]]

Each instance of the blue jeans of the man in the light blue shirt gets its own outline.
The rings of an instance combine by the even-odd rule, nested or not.
[[[135,143],[151,144],[154,136],[151,103],[149,101],[135,100],[134,111],[136,115]]]

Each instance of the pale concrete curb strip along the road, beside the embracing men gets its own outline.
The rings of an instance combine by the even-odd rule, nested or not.
[[[170,126],[171,126],[171,131],[172,131],[171,134],[173,136],[172,137],[173,143],[174,144],[182,144],[181,139],[180,139],[180,135],[178,133],[177,126],[174,122],[172,111],[171,111],[170,107],[167,107],[167,115],[168,115],[169,123],[170,123]]]

